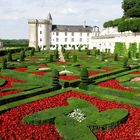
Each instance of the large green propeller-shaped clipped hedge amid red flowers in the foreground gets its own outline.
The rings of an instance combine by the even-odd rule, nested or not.
[[[126,109],[110,109],[99,112],[90,102],[77,98],[69,98],[68,103],[68,106],[51,108],[30,114],[23,118],[23,122],[35,125],[53,123],[64,139],[89,139],[90,137],[93,140],[96,139],[96,136],[91,131],[115,128],[126,121],[128,117]],[[75,109],[79,109],[80,114],[82,113],[85,116],[80,122],[76,118],[69,116]],[[80,118],[81,116],[79,116]],[[83,131],[84,133],[81,133]]]

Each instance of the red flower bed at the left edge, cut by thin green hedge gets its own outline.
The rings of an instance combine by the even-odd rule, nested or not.
[[[25,81],[23,80],[18,80],[15,78],[9,78],[6,76],[0,76],[0,78],[3,78],[7,81],[7,83],[4,86],[0,86],[0,90],[5,89],[5,88],[12,88],[12,83],[16,82],[16,83],[25,83]],[[13,90],[13,91],[6,91],[6,92],[0,92],[0,96],[5,96],[5,95],[10,95],[10,94],[15,94],[15,93],[19,93],[20,91],[18,90]]]

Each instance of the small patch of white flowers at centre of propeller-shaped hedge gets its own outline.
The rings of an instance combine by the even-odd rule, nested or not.
[[[77,120],[78,122],[82,122],[86,119],[85,114],[80,109],[74,109],[72,113],[68,114],[69,117]]]

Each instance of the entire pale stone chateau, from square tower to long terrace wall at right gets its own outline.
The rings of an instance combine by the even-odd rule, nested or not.
[[[109,49],[114,52],[115,42],[124,42],[126,47],[129,43],[140,43],[140,33],[131,31],[120,33],[117,27],[105,28],[102,31],[98,26],[83,25],[54,25],[49,13],[47,19],[30,19],[29,46],[43,49],[61,49],[62,45],[70,50],[74,46],[78,49],[97,48],[101,51]],[[138,46],[138,45],[137,45]]]

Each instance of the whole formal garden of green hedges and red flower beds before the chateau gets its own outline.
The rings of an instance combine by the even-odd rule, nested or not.
[[[139,140],[140,49],[0,52],[0,139]]]

